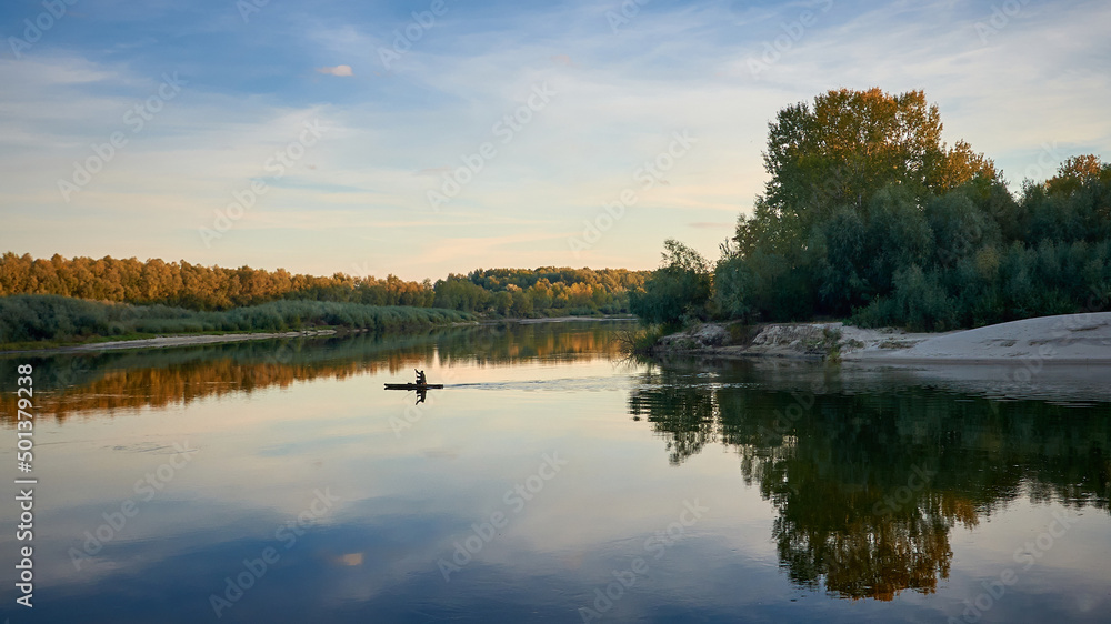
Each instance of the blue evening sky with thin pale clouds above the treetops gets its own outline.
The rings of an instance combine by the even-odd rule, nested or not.
[[[923,90],[1015,190],[1111,154],[1111,3],[0,6],[0,251],[420,280],[713,260],[777,111]]]

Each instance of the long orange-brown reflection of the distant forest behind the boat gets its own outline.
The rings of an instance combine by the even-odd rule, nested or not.
[[[611,358],[620,323],[501,324],[420,335],[268,340],[180,349],[19,356],[34,366],[36,413],[71,414],[160,407],[207,396],[288,388],[298,381],[346,379],[381,370],[404,374],[433,359],[443,365],[498,365],[538,358]],[[11,361],[9,359],[9,361]],[[0,375],[0,413],[13,426],[16,375]]]

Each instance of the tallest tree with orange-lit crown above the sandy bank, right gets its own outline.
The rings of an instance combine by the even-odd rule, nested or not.
[[[722,311],[769,320],[848,315],[890,295],[899,270],[924,271],[933,261],[938,229],[924,207],[934,198],[979,193],[993,210],[1011,210],[1013,202],[999,199],[1005,189],[991,160],[963,141],[949,148],[941,130],[938,107],[921,91],[841,89],[781,110],[763,154],[771,178],[752,215],[738,221],[738,259],[723,264],[733,278],[750,276],[747,293],[738,300],[740,282],[722,282],[731,289],[715,294]],[[967,212],[937,223],[977,232],[947,240],[949,264],[998,234],[982,210]]]

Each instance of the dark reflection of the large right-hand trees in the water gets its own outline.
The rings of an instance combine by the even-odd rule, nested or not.
[[[932,593],[949,576],[957,524],[1023,495],[1108,507],[1107,405],[921,386],[811,394],[743,373],[648,373],[630,412],[665,439],[672,464],[714,441],[737,449],[745,483],[779,512],[780,565],[800,585],[850,598]]]

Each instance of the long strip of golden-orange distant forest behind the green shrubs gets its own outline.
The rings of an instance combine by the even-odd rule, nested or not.
[[[53,294],[134,305],[227,311],[280,300],[442,308],[501,316],[623,313],[648,271],[490,269],[450,274],[434,284],[336,273],[330,278],[242,266],[111,256],[49,260],[0,256],[0,296]]]

